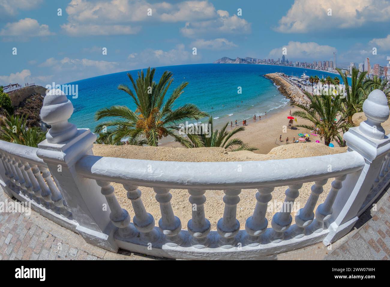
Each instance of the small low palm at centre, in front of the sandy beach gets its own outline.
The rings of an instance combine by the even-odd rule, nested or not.
[[[209,117],[207,130],[200,127],[200,130],[197,135],[188,134],[188,139],[191,142],[192,148],[202,148],[202,147],[221,147],[225,149],[229,149],[229,152],[236,152],[239,150],[258,150],[258,148],[255,148],[253,146],[249,146],[248,144],[244,143],[239,138],[233,138],[232,136],[245,130],[245,127],[237,127],[231,130],[230,132],[227,132],[226,128],[229,125],[229,122],[227,122],[220,130],[214,130],[213,129],[213,118]]]

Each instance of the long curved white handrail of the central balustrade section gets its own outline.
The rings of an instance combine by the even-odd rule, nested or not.
[[[242,162],[175,162],[86,155],[77,162],[76,170],[84,177],[109,182],[218,190],[313,182],[353,173],[364,164],[358,152]]]

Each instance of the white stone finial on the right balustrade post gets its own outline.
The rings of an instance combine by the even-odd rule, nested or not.
[[[381,126],[389,118],[389,107],[385,93],[374,90],[363,103],[363,112],[367,120],[360,123],[359,130],[373,139],[383,139],[385,130]]]

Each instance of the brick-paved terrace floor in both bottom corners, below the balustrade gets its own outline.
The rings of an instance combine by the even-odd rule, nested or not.
[[[269,260],[388,259],[390,257],[390,194],[379,196],[377,210],[367,210],[354,230],[332,244],[322,242],[271,255]],[[0,189],[0,201],[10,201]],[[113,253],[90,245],[75,232],[34,210],[0,213],[0,260],[156,260],[164,259],[120,250]]]

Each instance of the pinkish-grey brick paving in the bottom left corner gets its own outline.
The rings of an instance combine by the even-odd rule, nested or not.
[[[0,201],[11,199],[0,189]],[[154,257],[90,245],[34,210],[31,214],[0,213],[0,260],[150,260]],[[160,258],[161,259],[161,258]]]

